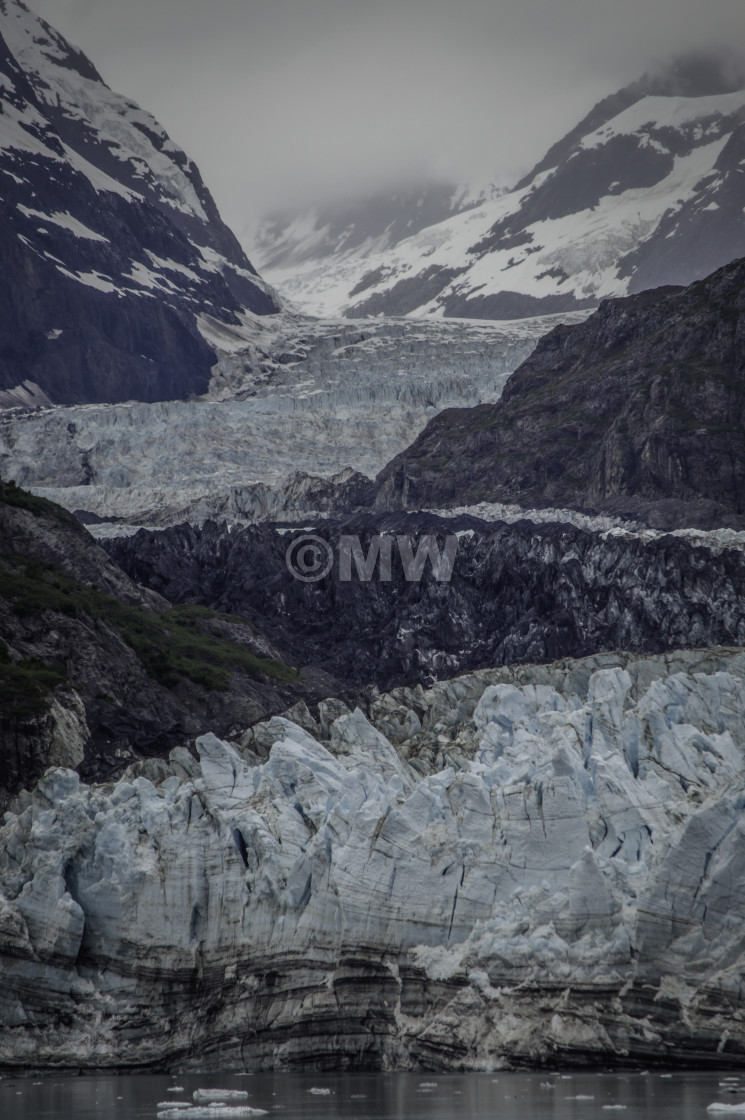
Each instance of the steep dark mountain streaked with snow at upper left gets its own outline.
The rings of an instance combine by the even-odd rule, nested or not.
[[[199,171],[21,0],[0,0],[6,404],[204,393],[220,325],[278,310]]]

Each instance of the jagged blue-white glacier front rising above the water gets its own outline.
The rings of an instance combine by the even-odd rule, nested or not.
[[[0,830],[0,1065],[743,1064],[744,674],[497,670],[50,772]]]

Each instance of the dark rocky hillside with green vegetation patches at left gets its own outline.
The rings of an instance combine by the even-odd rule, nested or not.
[[[0,483],[0,809],[48,766],[89,778],[327,696],[245,618],[175,608],[65,510]]]

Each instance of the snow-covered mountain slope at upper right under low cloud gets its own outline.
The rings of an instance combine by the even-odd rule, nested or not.
[[[745,68],[689,57],[597,104],[515,188],[398,244],[282,256],[313,314],[505,319],[689,283],[745,254]],[[269,230],[269,227],[268,227]],[[291,263],[291,270],[287,264]],[[279,269],[279,264],[282,268]]]

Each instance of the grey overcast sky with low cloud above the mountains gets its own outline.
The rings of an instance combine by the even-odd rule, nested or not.
[[[745,0],[27,0],[197,161],[240,231],[426,176],[512,184]]]

